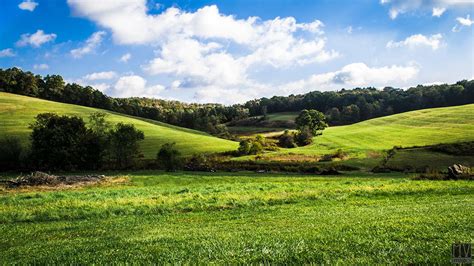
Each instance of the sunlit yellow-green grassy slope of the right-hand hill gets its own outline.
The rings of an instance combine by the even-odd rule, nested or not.
[[[343,149],[365,153],[393,146],[424,146],[474,140],[474,104],[432,108],[360,123],[327,128],[306,147],[291,149],[303,154],[324,154]],[[288,150],[287,150],[288,151]]]

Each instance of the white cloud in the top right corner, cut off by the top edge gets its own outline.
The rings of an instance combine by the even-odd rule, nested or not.
[[[400,14],[416,10],[432,12],[433,16],[441,16],[446,9],[451,7],[471,7],[473,0],[381,0],[382,5],[390,6],[389,16],[396,19]]]

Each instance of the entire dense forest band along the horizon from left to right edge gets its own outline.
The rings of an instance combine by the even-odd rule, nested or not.
[[[406,111],[474,103],[474,80],[407,90],[386,87],[274,96],[244,104],[196,104],[149,98],[113,98],[90,86],[66,83],[60,75],[42,77],[19,68],[0,69],[0,91],[102,108],[228,137],[225,123],[275,112],[315,109],[330,125]]]

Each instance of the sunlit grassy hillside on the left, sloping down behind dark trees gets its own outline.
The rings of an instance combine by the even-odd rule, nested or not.
[[[57,114],[77,115],[87,119],[90,113],[99,109],[64,104],[0,92],[0,135],[18,136],[25,142],[28,140],[30,129],[28,125],[37,114],[54,112]],[[171,126],[147,119],[125,116],[109,111],[112,123],[132,123],[145,133],[141,143],[146,158],[154,158],[160,146],[166,142],[176,142],[177,148],[183,155],[193,153],[212,153],[235,150],[238,143],[215,138],[203,132]]]

